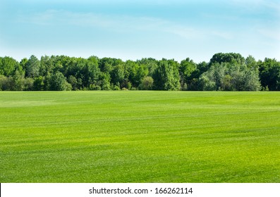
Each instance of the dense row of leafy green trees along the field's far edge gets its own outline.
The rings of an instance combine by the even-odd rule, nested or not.
[[[142,58],[75,58],[36,56],[20,62],[0,57],[1,91],[64,90],[184,90],[260,91],[280,90],[280,62],[256,61],[240,53],[216,53],[209,63],[190,58],[156,60]]]

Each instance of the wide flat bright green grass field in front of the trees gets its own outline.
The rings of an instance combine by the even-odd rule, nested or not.
[[[0,92],[0,182],[280,182],[280,92]]]

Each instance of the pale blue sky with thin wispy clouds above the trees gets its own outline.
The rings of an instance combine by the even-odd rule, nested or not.
[[[1,0],[0,56],[280,61],[279,0]]]

